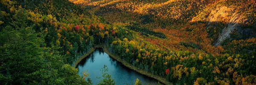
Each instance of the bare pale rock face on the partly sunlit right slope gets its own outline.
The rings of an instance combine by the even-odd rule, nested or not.
[[[236,10],[236,6],[219,6],[214,11],[211,11],[209,15],[209,22],[207,28],[216,26],[213,25],[215,22],[221,22],[225,24],[218,38],[215,40],[213,45],[218,46],[226,39],[231,39],[230,35],[236,33],[239,38],[250,38],[256,36],[256,25],[253,28],[243,28],[242,25],[249,22],[252,18],[244,17],[241,13],[232,13]],[[232,16],[230,16],[232,15]]]

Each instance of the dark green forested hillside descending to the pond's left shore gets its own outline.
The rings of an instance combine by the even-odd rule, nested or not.
[[[68,0],[0,0],[0,85],[90,85],[71,62],[93,37],[74,28],[96,22]]]

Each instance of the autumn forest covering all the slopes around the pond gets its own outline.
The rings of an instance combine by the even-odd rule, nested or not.
[[[0,0],[0,85],[92,85],[74,64],[95,45],[173,85],[255,85],[255,18],[255,0]]]

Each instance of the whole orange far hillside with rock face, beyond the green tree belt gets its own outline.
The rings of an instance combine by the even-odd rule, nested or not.
[[[135,25],[166,33],[165,36],[172,35],[166,39],[172,40],[170,42],[149,40],[152,43],[167,44],[164,47],[171,49],[180,49],[180,42],[185,42],[194,43],[207,53],[216,54],[221,51],[215,46],[256,36],[253,0],[70,1],[88,9],[92,14],[104,17],[110,23],[134,25],[135,22]]]

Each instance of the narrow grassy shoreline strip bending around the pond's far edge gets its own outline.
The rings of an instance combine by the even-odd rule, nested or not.
[[[160,76],[157,76],[157,75],[153,75],[147,71],[144,71],[144,70],[141,70],[140,68],[137,68],[133,65],[131,65],[130,63],[126,62],[125,60],[122,60],[120,57],[117,57],[116,55],[112,54],[111,52],[108,51],[107,47],[105,45],[95,45],[93,48],[91,48],[91,50],[87,53],[87,54],[84,54],[82,57],[80,57],[76,62],[75,62],[75,67],[76,65],[81,62],[82,59],[84,59],[85,57],[87,57],[89,54],[93,53],[93,51],[96,49],[96,48],[102,48],[103,51],[105,53],[107,53],[110,57],[112,57],[113,59],[116,59],[118,62],[121,62],[123,65],[125,65],[126,67],[142,74],[142,75],[145,75],[147,77],[151,77],[153,79],[156,79],[157,81],[159,81],[160,83],[164,84],[164,85],[173,85],[171,82],[168,82],[166,81],[165,78],[163,77],[160,77]]]

